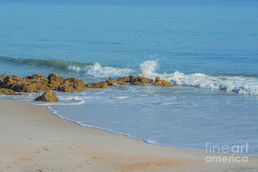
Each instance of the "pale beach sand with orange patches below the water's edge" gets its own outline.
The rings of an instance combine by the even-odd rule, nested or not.
[[[148,144],[7,99],[0,99],[0,130],[0,171],[258,171],[257,156],[208,163],[206,156],[230,155]]]

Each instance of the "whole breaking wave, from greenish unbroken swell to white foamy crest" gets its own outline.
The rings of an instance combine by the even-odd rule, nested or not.
[[[143,76],[155,80],[157,76],[177,85],[202,87],[207,89],[223,89],[235,91],[241,94],[258,95],[258,78],[243,76],[210,76],[202,73],[185,75],[179,71],[174,73],[156,73],[159,68],[157,60],[146,60],[142,62],[137,70],[129,68],[115,68],[100,65],[99,63],[77,63],[66,60],[41,60],[0,57],[0,60],[8,63],[26,64],[46,67],[58,67],[60,69],[79,72],[80,74],[94,77],[112,77],[118,79],[122,76]]]

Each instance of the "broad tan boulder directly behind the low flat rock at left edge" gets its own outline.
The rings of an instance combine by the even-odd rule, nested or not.
[[[9,85],[9,88],[16,92],[25,92],[25,93],[37,93],[37,89],[34,85],[30,85],[27,81],[18,81]]]

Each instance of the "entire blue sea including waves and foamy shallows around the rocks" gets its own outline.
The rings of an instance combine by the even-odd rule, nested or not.
[[[176,84],[57,92],[60,102],[45,105],[59,116],[169,146],[248,142],[258,155],[257,1],[1,0],[0,9],[0,74]]]

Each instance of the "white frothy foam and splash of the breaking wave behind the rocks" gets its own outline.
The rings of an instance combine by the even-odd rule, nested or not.
[[[79,67],[69,67],[68,70],[79,71],[82,74],[92,75],[94,77],[112,77],[118,79],[122,76],[143,76],[155,80],[157,76],[177,85],[186,85],[193,87],[202,87],[207,89],[223,89],[225,91],[236,91],[241,94],[258,95],[258,79],[252,77],[225,77],[208,76],[202,73],[184,75],[184,73],[175,71],[174,73],[155,73],[159,67],[158,61],[146,60],[139,65],[138,70],[129,68],[103,67],[99,63],[86,66],[83,69]]]

